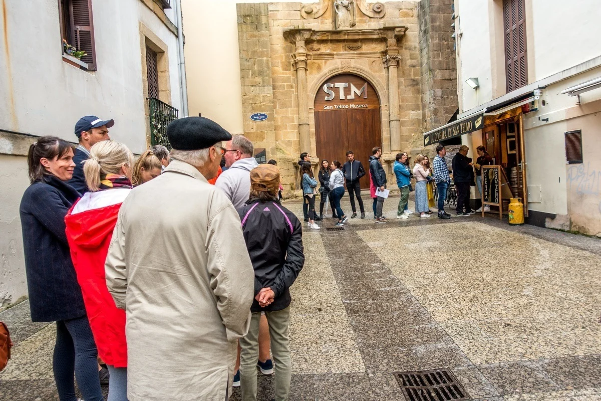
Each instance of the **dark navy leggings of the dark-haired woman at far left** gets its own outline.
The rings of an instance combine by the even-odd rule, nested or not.
[[[98,350],[87,316],[56,322],[52,371],[58,398],[76,401],[75,381],[85,401],[103,401],[98,377]]]

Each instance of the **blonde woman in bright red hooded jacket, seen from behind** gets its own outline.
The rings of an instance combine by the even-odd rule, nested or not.
[[[90,188],[65,218],[73,266],[98,354],[109,373],[109,401],[127,400],[125,311],[106,288],[105,260],[121,203],[132,189],[132,152],[123,144],[102,141],[84,162]]]

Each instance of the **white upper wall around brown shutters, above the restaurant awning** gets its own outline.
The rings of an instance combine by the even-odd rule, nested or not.
[[[529,71],[534,66],[534,74],[529,73],[530,83],[601,55],[601,24],[591,18],[600,13],[599,1],[525,1]],[[463,112],[505,93],[504,60],[499,58],[505,46],[502,0],[455,0],[455,4]],[[471,77],[479,79],[478,90],[465,83]],[[498,82],[493,82],[495,78]]]

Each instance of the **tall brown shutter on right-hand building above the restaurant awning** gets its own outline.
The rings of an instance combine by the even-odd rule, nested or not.
[[[528,85],[524,0],[503,1],[507,92]]]

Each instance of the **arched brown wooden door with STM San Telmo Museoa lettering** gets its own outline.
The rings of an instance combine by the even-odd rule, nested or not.
[[[353,74],[332,76],[320,85],[314,102],[317,157],[347,161],[352,150],[367,171],[371,148],[382,146],[379,97],[370,82]],[[368,174],[361,188],[369,188]]]

